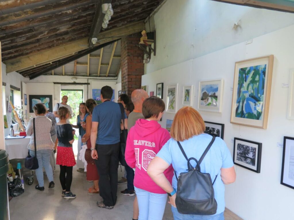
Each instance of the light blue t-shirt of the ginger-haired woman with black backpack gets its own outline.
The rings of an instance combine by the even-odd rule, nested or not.
[[[181,141],[180,143],[188,158],[194,157],[199,160],[211,139],[212,136],[209,134],[200,134],[198,136],[193,136],[188,140]],[[156,156],[165,160],[168,165],[172,164],[177,176],[181,172],[187,172],[187,160],[182,154],[177,141],[173,138],[166,142]],[[191,160],[190,163],[193,167],[196,166],[194,160]],[[209,173],[212,182],[216,175],[218,175],[213,184],[214,198],[218,204],[216,214],[220,214],[225,210],[225,186],[220,177],[220,168],[230,168],[233,165],[232,156],[227,145],[221,138],[216,137],[211,148],[200,164],[201,172]],[[172,186],[177,189],[177,179],[175,175],[173,175]]]

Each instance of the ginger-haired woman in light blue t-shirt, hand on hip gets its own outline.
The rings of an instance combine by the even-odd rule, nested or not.
[[[199,160],[212,141],[212,136],[204,133],[205,124],[198,111],[190,106],[181,108],[173,119],[171,126],[171,139],[158,152],[150,162],[147,173],[156,184],[168,193],[169,203],[172,205],[173,218],[178,219],[210,219],[223,220],[225,211],[225,186],[235,181],[236,173],[230,151],[225,142],[216,137],[211,148],[200,164],[202,173],[209,173],[214,189],[214,198],[217,202],[217,211],[214,215],[180,214],[176,207],[177,178],[173,175],[172,184],[164,175],[164,171],[173,165],[176,175],[187,172],[185,159],[179,144],[182,146],[187,158]],[[179,143],[179,144],[178,144]],[[191,160],[191,165],[196,166],[196,161]]]

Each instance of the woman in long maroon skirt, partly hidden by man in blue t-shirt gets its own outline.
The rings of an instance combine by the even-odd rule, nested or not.
[[[86,101],[86,109],[89,113],[89,115],[86,118],[86,133],[84,134],[82,138],[82,142],[87,142],[87,151],[90,151],[91,155],[91,141],[90,141],[90,135],[91,135],[91,127],[92,127],[92,112],[94,107],[96,106],[96,101],[94,99],[88,99]],[[89,193],[99,193],[99,175],[98,170],[95,164],[95,161],[92,158],[87,159],[87,180],[93,181],[94,185],[88,189]]]

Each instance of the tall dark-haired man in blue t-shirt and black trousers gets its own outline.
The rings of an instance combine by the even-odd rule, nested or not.
[[[113,89],[110,86],[101,88],[101,101],[93,109],[91,129],[92,158],[100,175],[99,189],[102,202],[97,206],[112,209],[116,203],[117,170],[120,146],[121,109],[111,101]],[[95,147],[94,147],[95,146]]]

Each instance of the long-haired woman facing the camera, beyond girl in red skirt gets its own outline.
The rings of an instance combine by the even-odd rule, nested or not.
[[[86,117],[88,116],[88,111],[86,109],[86,103],[82,102],[79,105],[78,116],[76,117],[76,125],[71,125],[73,128],[78,128],[78,156],[76,159],[77,163],[77,171],[84,170],[84,163],[79,159],[80,151],[82,149],[82,137],[86,133],[85,131],[85,124],[86,124]]]

